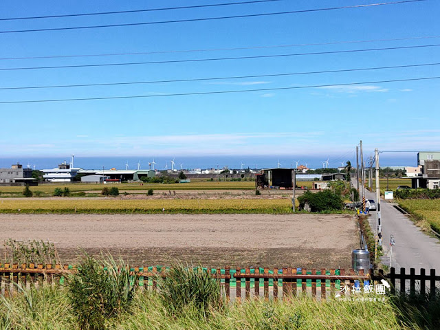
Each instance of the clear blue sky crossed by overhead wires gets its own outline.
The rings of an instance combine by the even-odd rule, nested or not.
[[[228,1],[211,0],[209,3]],[[162,21],[375,3],[283,0],[192,10],[0,21],[0,30]],[[135,10],[208,1],[9,1],[1,17]],[[124,28],[0,34],[0,57],[205,50],[440,35],[439,1],[272,17]],[[440,43],[440,38],[254,50],[21,59],[0,68],[329,52]],[[0,87],[307,72],[439,62],[440,47],[202,63],[1,71]],[[331,85],[440,76],[440,66],[107,87],[0,90],[0,100],[135,96]],[[0,158],[309,155],[438,149],[440,80],[240,94],[0,104]]]

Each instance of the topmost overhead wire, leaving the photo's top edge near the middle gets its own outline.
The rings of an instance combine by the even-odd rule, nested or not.
[[[228,3],[212,3],[208,5],[185,5],[179,7],[167,7],[167,8],[148,8],[137,10],[118,10],[115,12],[87,12],[80,14],[59,14],[59,15],[47,15],[47,16],[31,16],[31,17],[9,17],[0,19],[0,21],[18,21],[22,19],[58,19],[61,17],[81,17],[81,16],[96,16],[96,15],[109,15],[109,14],[130,14],[133,12],[158,12],[162,10],[179,10],[179,9],[193,9],[193,8],[206,8],[206,7],[221,7],[224,5],[248,5],[251,3],[264,3],[283,0],[255,0],[255,1],[243,1],[243,2],[228,2]]]

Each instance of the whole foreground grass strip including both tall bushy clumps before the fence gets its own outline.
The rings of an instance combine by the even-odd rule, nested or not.
[[[12,298],[0,296],[0,330],[440,329],[439,292],[435,299],[298,296],[228,304],[221,300],[219,281],[200,268],[177,263],[166,278],[156,280],[159,293],[136,291],[123,261],[86,255],[66,287],[42,285]]]

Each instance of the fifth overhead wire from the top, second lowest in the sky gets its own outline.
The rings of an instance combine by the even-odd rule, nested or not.
[[[252,76],[223,76],[210,78],[189,78],[189,79],[170,79],[170,80],[146,80],[146,81],[131,81],[120,83],[96,83],[96,84],[78,84],[78,85],[47,85],[47,86],[19,86],[19,87],[0,87],[0,90],[5,89],[44,89],[44,88],[65,88],[65,87],[92,87],[92,86],[115,86],[115,85],[143,85],[156,83],[184,83],[206,80],[230,80],[230,79],[244,79],[244,78],[267,78],[280,76],[296,76],[304,74],[330,74],[336,72],[358,72],[367,70],[382,70],[382,69],[400,69],[405,67],[428,67],[432,65],[440,65],[440,63],[422,63],[410,65],[393,65],[389,67],[362,67],[356,69],[340,69],[340,70],[325,70],[325,71],[309,71],[309,72],[290,72],[285,74],[257,74]]]

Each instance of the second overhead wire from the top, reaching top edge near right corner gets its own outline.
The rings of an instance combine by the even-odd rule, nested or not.
[[[248,17],[264,17],[264,16],[275,16],[283,14],[299,14],[303,12],[322,12],[329,10],[344,10],[351,8],[366,8],[378,5],[397,5],[401,3],[412,3],[421,2],[426,0],[403,0],[403,1],[393,1],[393,2],[382,2],[382,3],[369,3],[364,5],[346,5],[343,7],[332,7],[332,8],[316,8],[316,9],[305,9],[305,10],[291,10],[287,12],[264,12],[259,14],[243,14],[243,15],[232,15],[232,16],[222,16],[222,17],[202,17],[199,19],[176,19],[170,21],[153,21],[153,22],[138,22],[138,23],[119,23],[119,24],[109,24],[109,25],[83,25],[83,26],[73,26],[65,28],[42,28],[42,29],[30,29],[30,30],[6,30],[0,31],[0,34],[6,33],[21,33],[21,32],[47,32],[47,31],[63,31],[63,30],[84,30],[84,29],[96,29],[96,28],[117,28],[124,26],[139,26],[139,25],[155,25],[155,24],[168,24],[168,23],[184,23],[184,22],[198,22],[198,21],[214,21],[219,19],[243,19]]]

